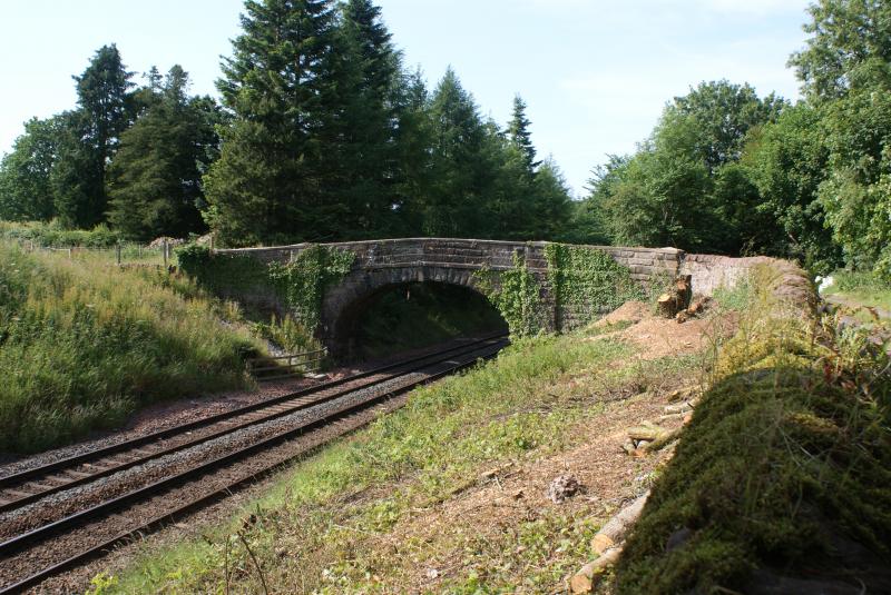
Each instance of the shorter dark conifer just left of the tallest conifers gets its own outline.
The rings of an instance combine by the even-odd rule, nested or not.
[[[187,89],[188,75],[173,67],[150,107],[121,135],[108,172],[109,221],[128,238],[185,237],[204,227],[202,173],[218,142],[219,110]]]

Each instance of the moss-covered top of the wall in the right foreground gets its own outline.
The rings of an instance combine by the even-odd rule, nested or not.
[[[756,307],[628,539],[619,593],[819,592],[821,575],[888,587],[873,582],[891,563],[888,357],[803,318],[775,284],[760,271]]]

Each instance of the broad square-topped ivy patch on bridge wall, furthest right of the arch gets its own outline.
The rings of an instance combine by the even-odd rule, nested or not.
[[[598,315],[615,310],[630,299],[644,299],[643,288],[631,279],[630,270],[611,256],[588,246],[548,244],[548,282],[564,326],[566,310],[571,308],[576,324],[585,324]]]

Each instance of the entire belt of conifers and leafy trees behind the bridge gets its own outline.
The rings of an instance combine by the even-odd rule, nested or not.
[[[178,66],[137,86],[115,44],[78,102],[0,160],[0,218],[221,245],[386,236],[774,255],[891,276],[891,8],[817,0],[789,58],[804,98],[703,81],[574,201],[513,96],[501,126],[449,68],[428,88],[372,0],[247,0],[221,105]],[[547,155],[547,153],[545,153]]]

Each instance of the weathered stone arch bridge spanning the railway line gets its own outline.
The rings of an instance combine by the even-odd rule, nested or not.
[[[548,313],[545,326],[561,330],[571,326],[554,304],[548,281],[545,247],[548,242],[495,241],[447,238],[407,238],[372,241],[325,244],[355,255],[351,271],[325,291],[321,309],[319,337],[334,354],[350,350],[351,334],[365,306],[380,292],[393,286],[415,281],[458,285],[480,291],[473,282],[476,271],[509,270],[515,259],[525,262],[541,287],[541,303]],[[309,244],[272,248],[217,250],[216,254],[249,255],[264,262],[287,262]],[[654,276],[677,275],[684,252],[674,248],[624,248],[597,246],[630,270],[634,280],[646,285]],[[571,318],[571,313],[569,314]]]

